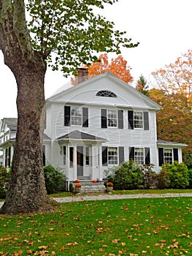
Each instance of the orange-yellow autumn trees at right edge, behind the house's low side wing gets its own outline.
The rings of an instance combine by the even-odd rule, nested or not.
[[[162,107],[157,113],[158,138],[188,144],[184,160],[191,167],[192,50],[152,75],[156,89],[150,90],[150,98]]]

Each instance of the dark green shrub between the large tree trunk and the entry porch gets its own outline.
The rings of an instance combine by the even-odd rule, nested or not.
[[[44,167],[44,176],[47,194],[64,190],[65,177],[53,166],[48,165]]]

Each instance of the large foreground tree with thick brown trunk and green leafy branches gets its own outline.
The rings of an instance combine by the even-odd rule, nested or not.
[[[65,75],[97,61],[95,53],[137,46],[93,13],[111,0],[0,0],[0,50],[18,86],[18,130],[1,214],[53,211],[42,167],[47,64]],[[28,23],[26,22],[26,10]]]

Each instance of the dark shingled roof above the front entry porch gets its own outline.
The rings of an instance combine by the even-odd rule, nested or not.
[[[91,141],[99,141],[106,142],[107,140],[104,138],[97,137],[95,135],[90,135],[85,132],[80,132],[75,130],[73,132],[69,132],[66,135],[59,137],[57,140],[91,140]]]

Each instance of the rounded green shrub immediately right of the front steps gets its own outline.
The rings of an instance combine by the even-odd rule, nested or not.
[[[142,184],[142,170],[133,161],[124,162],[107,180],[114,184],[114,189],[137,189]]]

